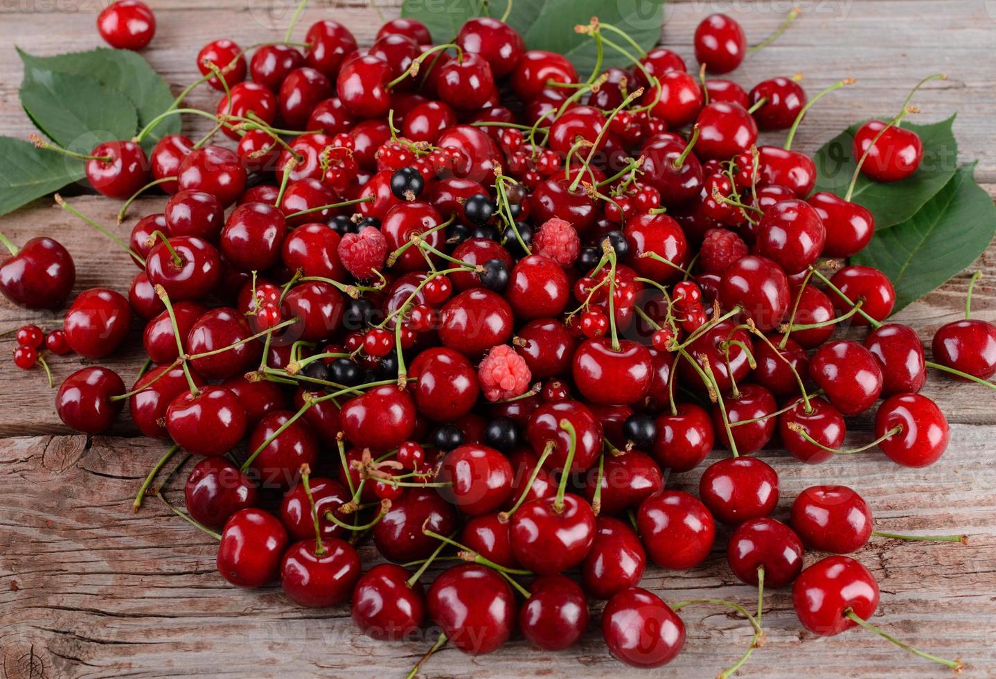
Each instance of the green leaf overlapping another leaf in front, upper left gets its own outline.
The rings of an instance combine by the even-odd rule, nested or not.
[[[78,152],[89,153],[101,141],[130,138],[138,124],[124,95],[83,76],[25,67],[20,95],[39,129]]]

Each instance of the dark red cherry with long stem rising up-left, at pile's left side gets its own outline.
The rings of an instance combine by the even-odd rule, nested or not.
[[[166,408],[166,431],[174,443],[195,455],[224,455],[246,432],[245,409],[228,389],[207,386],[173,399]]]

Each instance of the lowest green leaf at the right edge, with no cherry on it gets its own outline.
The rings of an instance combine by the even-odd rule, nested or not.
[[[958,168],[919,212],[876,231],[868,247],[851,258],[888,276],[896,312],[971,266],[996,235],[996,205],[972,178],[975,164]]]

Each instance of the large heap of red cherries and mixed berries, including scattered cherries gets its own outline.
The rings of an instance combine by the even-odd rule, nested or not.
[[[102,14],[113,45],[151,38],[150,12],[105,16],[139,6]],[[623,49],[615,27],[578,30]],[[790,148],[817,98],[792,78],[749,92],[706,79],[749,52],[729,17],[705,19],[694,42],[698,75],[657,47],[587,80],[492,18],[435,47],[409,19],[367,49],[334,21],[304,49],[266,44],[248,60],[210,43],[197,65],[221,93],[199,112],[211,134],[165,136],[146,158],[153,121],[84,159],[105,195],[152,182],[170,197],[119,241],[138,267],[127,298],[85,291],[49,336],[54,352],[61,341],[99,359],[137,317],[146,369],[130,389],[108,367],[78,370],[60,416],[100,434],[126,402],[143,434],[172,443],[136,509],[172,455],[195,456],[174,511],[219,539],[219,573],[279,580],[304,606],[350,603],[377,639],[420,638],[431,621],[433,649],[487,653],[516,628],[563,649],[603,599],[610,651],[657,667],[684,643],[677,611],[726,605],[753,638],[725,676],[763,641],[760,605],[668,605],[638,586],[647,559],[699,566],[717,521],[733,574],[792,585],[807,629],[875,630],[875,579],[842,556],[870,539],[869,505],[814,486],[775,520],[778,475],[749,455],[780,441],[806,464],[874,447],[905,467],[936,462],[949,430],[919,393],[926,368],[992,386],[996,327],[943,327],[932,363],[912,330],[884,323],[887,278],[832,259],[869,242],[871,213],[812,194],[814,162]],[[905,111],[855,138],[873,180],[922,158]],[[759,129],[789,128],[785,147],[756,144]],[[59,308],[74,279],[65,249],[10,247],[0,289]],[[839,325],[871,332],[835,339]],[[846,417],[873,407],[874,441],[842,449]],[[731,456],[705,469],[697,498],[664,487],[714,446]],[[387,563],[364,571],[368,535]],[[834,556],[804,568],[807,549]],[[430,564],[453,559],[423,588]]]

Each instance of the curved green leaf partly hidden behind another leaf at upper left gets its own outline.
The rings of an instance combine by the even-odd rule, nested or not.
[[[90,52],[62,54],[54,57],[35,57],[18,49],[25,70],[55,71],[71,76],[91,78],[105,88],[124,95],[138,113],[137,127],[145,124],[173,103],[169,86],[141,55],[130,50],[100,48]],[[150,148],[166,134],[180,131],[180,116],[164,119],[146,138],[143,144]],[[128,135],[134,134],[134,131]]]

